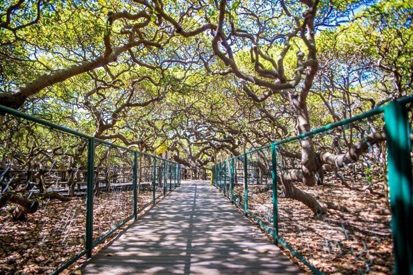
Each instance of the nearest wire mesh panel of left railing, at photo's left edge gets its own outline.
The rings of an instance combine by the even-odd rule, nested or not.
[[[85,249],[87,140],[8,114],[0,140],[0,273],[53,272]]]

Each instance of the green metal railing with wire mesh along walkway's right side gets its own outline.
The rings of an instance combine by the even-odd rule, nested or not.
[[[315,274],[412,275],[412,101],[401,98],[217,163],[213,185]],[[373,133],[380,128],[385,138],[378,141],[384,136]],[[322,185],[294,181],[301,171],[301,143],[310,140],[316,152],[335,150],[353,161],[319,163]],[[335,203],[313,214],[311,203],[300,200],[303,193]]]

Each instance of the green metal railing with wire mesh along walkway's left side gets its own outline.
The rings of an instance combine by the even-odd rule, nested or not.
[[[39,202],[37,213],[17,225],[8,211],[18,205],[2,207],[0,235],[15,226],[42,228],[0,246],[7,248],[6,256],[15,253],[29,264],[36,259],[19,247],[34,243],[31,255],[45,258],[36,262],[44,267],[38,272],[58,274],[80,257],[91,257],[96,245],[180,185],[177,163],[1,105],[0,115],[0,199],[13,193]],[[53,191],[70,201],[44,198]]]

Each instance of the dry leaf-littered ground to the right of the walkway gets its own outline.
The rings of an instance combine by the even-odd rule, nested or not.
[[[253,193],[261,186],[248,185],[248,190]],[[335,202],[348,211],[328,209],[327,215],[316,216],[301,202],[279,194],[281,238],[326,274],[393,273],[391,215],[385,198],[378,195],[382,193],[379,186],[372,186],[375,194],[346,189],[338,181],[296,186],[320,202]],[[271,196],[272,191],[254,194],[248,202],[250,212],[272,228]]]

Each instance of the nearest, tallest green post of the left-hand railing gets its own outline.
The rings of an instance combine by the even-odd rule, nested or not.
[[[88,140],[86,187],[86,257],[92,257],[93,249],[93,184],[94,184],[94,137]]]

